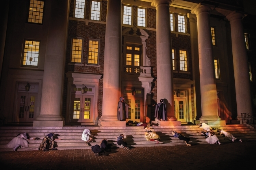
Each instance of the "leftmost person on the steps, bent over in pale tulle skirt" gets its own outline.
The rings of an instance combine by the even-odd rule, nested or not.
[[[26,132],[20,133],[19,135],[17,135],[17,137],[13,138],[6,145],[6,148],[13,148],[14,152],[16,152],[19,147],[28,147],[27,140],[35,140],[35,139],[28,137]]]

